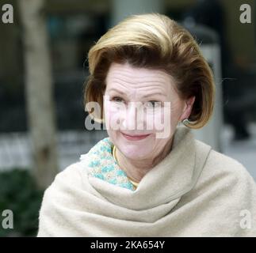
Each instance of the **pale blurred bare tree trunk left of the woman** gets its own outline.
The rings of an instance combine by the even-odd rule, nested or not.
[[[48,187],[58,172],[52,68],[44,0],[18,0],[23,24],[26,102],[36,181]]]

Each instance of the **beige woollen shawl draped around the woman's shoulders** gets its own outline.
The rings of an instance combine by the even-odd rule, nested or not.
[[[136,191],[71,164],[44,193],[38,236],[256,236],[256,185],[242,164],[179,126]]]

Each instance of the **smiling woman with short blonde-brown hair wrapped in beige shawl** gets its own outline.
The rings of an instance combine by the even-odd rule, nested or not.
[[[38,236],[256,236],[254,179],[189,130],[214,101],[189,32],[156,13],[128,17],[89,66],[86,108],[99,104],[88,110],[109,137],[45,191]]]

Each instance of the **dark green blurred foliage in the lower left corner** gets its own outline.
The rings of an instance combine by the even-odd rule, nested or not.
[[[0,236],[36,236],[43,194],[29,170],[0,172]],[[2,228],[3,210],[13,211],[13,229]]]

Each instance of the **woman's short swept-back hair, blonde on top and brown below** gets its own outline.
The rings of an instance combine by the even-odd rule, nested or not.
[[[215,96],[212,70],[193,36],[165,15],[132,15],[121,21],[90,48],[88,62],[90,76],[84,102],[85,106],[91,101],[101,105],[101,115],[89,111],[96,121],[103,119],[105,77],[113,62],[164,70],[174,77],[181,99],[196,97],[187,124],[190,128],[201,128],[212,115]]]

